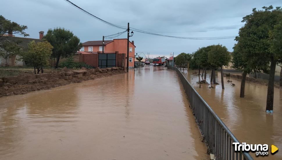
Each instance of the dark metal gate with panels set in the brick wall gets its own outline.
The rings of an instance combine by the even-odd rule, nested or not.
[[[116,67],[115,53],[100,54],[99,53],[99,68]]]

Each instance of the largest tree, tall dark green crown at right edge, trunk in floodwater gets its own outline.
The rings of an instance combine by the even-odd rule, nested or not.
[[[282,9],[273,9],[272,6],[263,9],[254,8],[250,15],[243,17],[242,22],[245,22],[245,25],[239,30],[239,41],[244,45],[242,53],[249,58],[250,65],[257,64],[256,68],[269,72],[266,111],[273,111],[275,67],[282,55],[281,52],[271,49],[275,38],[271,38],[270,33],[274,26],[281,22]]]

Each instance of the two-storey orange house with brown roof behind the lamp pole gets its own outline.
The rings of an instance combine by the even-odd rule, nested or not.
[[[87,41],[82,43],[82,48],[80,51],[88,51],[88,52],[102,52],[103,51],[103,41]],[[134,41],[129,41],[129,68],[134,68],[134,58],[135,58],[135,45]],[[105,40],[104,52],[105,53],[115,53],[126,54],[127,58],[127,39],[113,39],[113,40]],[[127,61],[127,59],[126,59]]]

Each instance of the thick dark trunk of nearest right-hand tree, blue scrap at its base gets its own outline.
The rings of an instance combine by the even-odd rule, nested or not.
[[[270,63],[269,80],[268,80],[267,97],[266,97],[266,109],[265,109],[269,111],[270,110],[273,111],[274,75],[275,75],[276,62],[277,61],[272,60]]]

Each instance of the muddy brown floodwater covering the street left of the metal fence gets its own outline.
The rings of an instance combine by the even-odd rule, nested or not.
[[[208,159],[175,71],[0,98],[0,159]]]

